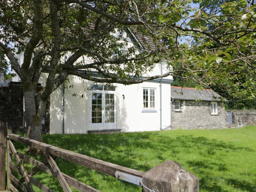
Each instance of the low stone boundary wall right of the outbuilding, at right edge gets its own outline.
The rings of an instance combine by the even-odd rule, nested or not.
[[[256,125],[256,110],[232,110],[232,125],[230,127],[244,127]]]

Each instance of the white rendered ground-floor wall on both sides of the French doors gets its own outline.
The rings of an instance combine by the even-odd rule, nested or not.
[[[90,95],[86,90],[93,82],[72,77],[74,88],[65,91],[65,133],[87,133],[90,130]],[[115,84],[117,128],[122,132],[160,130],[160,83],[143,82],[125,86]],[[156,112],[143,112],[143,87],[155,88]],[[85,89],[85,90],[84,90]],[[72,94],[77,96],[73,97]],[[83,94],[83,97],[82,97]],[[123,99],[124,95],[124,99]],[[170,84],[162,84],[162,128],[170,125]],[[62,89],[50,96],[50,134],[62,133]]]

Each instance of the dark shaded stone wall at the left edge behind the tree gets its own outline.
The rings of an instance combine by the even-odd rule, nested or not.
[[[23,128],[23,90],[20,82],[0,87],[0,121],[8,123],[13,131]]]

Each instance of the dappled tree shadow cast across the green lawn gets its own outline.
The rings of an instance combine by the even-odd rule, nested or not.
[[[162,132],[142,132],[142,133],[118,133],[114,135],[43,135],[45,143],[64,148],[67,150],[75,151],[76,153],[88,155],[103,161],[111,162],[117,165],[129,167],[132,169],[146,172],[155,165],[150,163],[140,163],[140,158],[147,156],[147,154],[137,154],[136,151],[143,149],[144,151],[150,151],[154,159],[162,159],[166,157],[164,153],[168,153],[168,159],[174,160],[182,153],[182,150],[200,150],[202,156],[215,158],[216,153],[221,150],[225,150],[226,153],[236,151],[255,152],[248,147],[236,147],[231,143],[221,142],[215,139],[207,139],[204,137],[195,137],[192,135],[169,137],[163,135]],[[23,145],[16,145],[17,149],[24,150]],[[202,149],[202,146],[204,148]],[[205,147],[207,146],[207,147]],[[137,159],[136,159],[136,158]],[[215,177],[209,175],[206,169],[218,171],[229,171],[224,163],[216,163],[209,160],[206,161],[185,161],[188,165],[196,167],[197,170],[193,171],[193,174],[201,174],[200,189],[204,191],[223,191],[223,184],[221,177]],[[96,184],[95,177],[92,177],[93,170],[85,167],[75,165],[74,163],[67,162],[63,159],[57,158],[56,163],[59,165],[60,170],[74,178],[78,179],[91,187],[99,189],[100,186]],[[161,162],[159,162],[161,163]],[[45,174],[39,176],[40,180],[44,180]],[[99,174],[99,178],[102,181],[108,181],[111,185],[116,179],[106,176],[105,174]],[[97,178],[96,178],[97,179]],[[127,183],[126,183],[127,184]],[[245,181],[229,180],[228,184],[239,185],[240,189],[255,192],[255,186]],[[57,180],[53,180],[50,183],[53,186],[54,191],[61,191]],[[136,187],[132,184],[127,184],[130,188]],[[49,185],[48,185],[49,186]],[[120,191],[120,190],[119,190]]]

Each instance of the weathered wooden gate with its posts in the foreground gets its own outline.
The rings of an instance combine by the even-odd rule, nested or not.
[[[39,162],[33,158],[30,158],[26,154],[19,153],[16,151],[12,141],[23,143],[27,146],[42,151],[42,153],[45,155],[45,159],[42,162]],[[81,192],[99,192],[97,189],[94,189],[93,187],[90,187],[83,182],[76,180],[75,178],[61,173],[59,167],[54,161],[57,157],[96,170],[98,172],[108,174],[109,176],[116,177],[117,179],[139,185],[142,187],[143,192],[199,192],[198,178],[182,169],[177,162],[166,161],[153,169],[148,170],[148,172],[142,173],[134,169],[129,169],[127,167],[105,162],[86,155],[74,153],[59,147],[12,134],[10,129],[6,131],[4,124],[1,122],[0,191],[5,189],[5,150],[7,151],[7,188],[13,192],[33,192],[33,187],[31,184],[34,184],[43,192],[52,192],[52,189],[49,188],[50,186],[46,186],[32,177],[39,170],[56,177],[59,180],[64,192],[71,192],[69,186],[72,186]],[[15,157],[15,161],[17,162],[18,166],[12,162],[12,156]],[[34,166],[29,173],[26,173],[22,160]],[[47,166],[48,163],[50,167]],[[22,178],[16,178],[13,172],[20,174]]]

